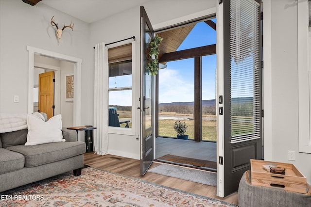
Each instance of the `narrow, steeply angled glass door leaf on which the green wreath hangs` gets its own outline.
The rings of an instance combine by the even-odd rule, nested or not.
[[[154,31],[143,6],[140,6],[140,30],[140,175],[145,175],[154,160],[154,78],[146,72],[146,48],[154,37]]]

